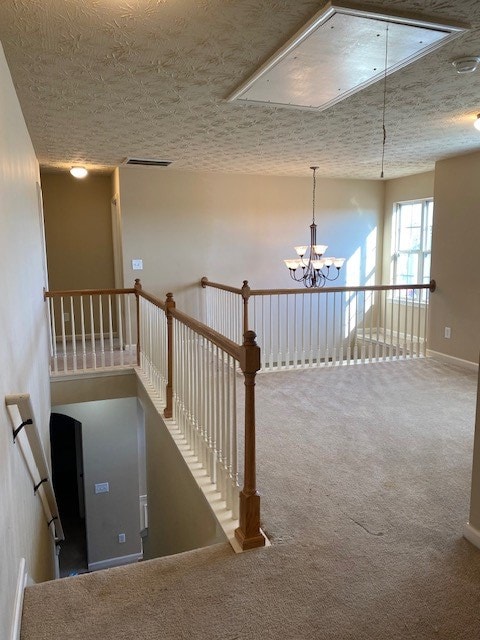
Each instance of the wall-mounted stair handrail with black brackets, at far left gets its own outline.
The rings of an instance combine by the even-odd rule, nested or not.
[[[48,510],[50,514],[47,515],[47,525],[51,524],[55,527],[55,542],[61,542],[65,539],[62,523],[60,521],[60,514],[58,511],[57,500],[55,498],[55,491],[53,489],[52,477],[43,450],[42,441],[38,433],[37,425],[33,415],[32,403],[30,401],[30,395],[28,393],[21,393],[17,395],[5,396],[5,404],[7,406],[17,406],[20,418],[22,420],[21,425],[17,425],[13,430],[13,440],[15,442],[16,436],[25,428],[28,444],[32,451],[32,456],[35,461],[35,465],[38,470],[39,479],[38,483],[34,486],[34,492],[39,489],[44,491],[45,498],[48,504]],[[45,505],[44,505],[45,507]],[[48,518],[50,518],[48,520]]]

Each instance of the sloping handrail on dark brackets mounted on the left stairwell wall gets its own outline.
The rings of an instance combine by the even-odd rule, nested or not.
[[[31,452],[31,457],[35,465],[35,469],[30,469],[32,474],[35,494],[40,496],[43,509],[47,518],[47,525],[52,530],[55,542],[61,542],[65,539],[63,527],[58,512],[57,500],[53,489],[52,477],[48,467],[45,452],[43,450],[40,434],[35,422],[33,407],[28,393],[20,393],[16,395],[5,396],[5,404],[7,407],[17,407],[17,411],[11,411],[13,441],[17,442],[20,434],[25,433]],[[19,418],[17,424],[16,416]],[[27,459],[27,456],[25,456]],[[53,529],[52,529],[53,527]]]

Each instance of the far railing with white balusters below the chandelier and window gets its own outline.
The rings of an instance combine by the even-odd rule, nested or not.
[[[250,289],[210,282],[206,323],[232,340],[253,325],[262,370],[424,357],[432,280],[426,285]]]

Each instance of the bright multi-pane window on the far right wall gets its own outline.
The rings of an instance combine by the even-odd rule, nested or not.
[[[395,204],[392,220],[393,284],[430,282],[432,223],[432,199]]]

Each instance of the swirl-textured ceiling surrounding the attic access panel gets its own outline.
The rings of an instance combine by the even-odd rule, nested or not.
[[[43,167],[172,167],[379,178],[383,86],[323,112],[226,98],[323,5],[313,0],[1,0],[0,41]],[[363,2],[471,30],[388,78],[385,177],[480,149],[478,0]],[[132,168],[132,171],[141,171]],[[170,169],[158,169],[169,171]]]

